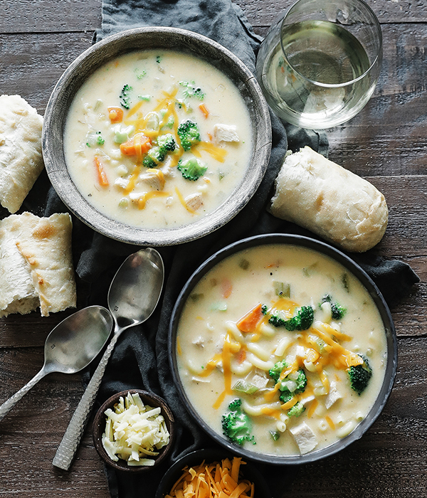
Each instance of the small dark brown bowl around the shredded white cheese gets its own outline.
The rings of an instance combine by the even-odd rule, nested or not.
[[[154,465],[151,467],[149,465],[127,465],[125,460],[119,459],[117,462],[111,460],[105,451],[104,446],[102,445],[102,434],[105,431],[105,410],[107,408],[112,408],[116,403],[119,402],[120,396],[125,398],[127,393],[131,394],[139,394],[142,403],[144,405],[151,406],[152,408],[160,407],[160,413],[164,416],[164,421],[167,426],[167,430],[169,431],[169,443],[162,447],[159,450],[159,455],[155,459]],[[166,401],[157,394],[143,391],[142,389],[126,389],[125,391],[120,391],[119,393],[115,393],[110,398],[108,398],[100,408],[97,410],[95,414],[95,418],[93,419],[93,444],[95,445],[95,449],[97,450],[98,455],[102,458],[102,460],[110,467],[115,468],[116,470],[120,470],[122,472],[147,472],[151,469],[157,468],[157,466],[162,463],[162,461],[167,457],[169,451],[172,449],[174,445],[174,415],[172,414],[171,409],[167,405]]]

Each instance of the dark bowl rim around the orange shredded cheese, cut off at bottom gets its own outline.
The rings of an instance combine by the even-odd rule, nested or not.
[[[160,481],[159,487],[154,498],[164,498],[166,494],[170,492],[172,486],[175,484],[176,480],[181,476],[183,468],[188,465],[196,466],[205,461],[207,464],[212,462],[221,462],[224,458],[238,457],[236,452],[227,452],[226,450],[221,450],[217,448],[204,448],[204,450],[196,450],[191,453],[187,453],[184,457],[177,460],[172,467],[167,470],[164,477]],[[245,465],[241,466],[241,472],[245,479],[253,482],[255,484],[255,497],[256,498],[271,498],[270,490],[268,489],[268,484],[265,481],[261,472],[252,465],[251,462],[246,462]]]

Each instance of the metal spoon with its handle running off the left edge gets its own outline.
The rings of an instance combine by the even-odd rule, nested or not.
[[[102,306],[80,309],[48,335],[44,364],[36,376],[0,406],[0,420],[48,373],[76,373],[90,364],[110,337],[112,316]]]

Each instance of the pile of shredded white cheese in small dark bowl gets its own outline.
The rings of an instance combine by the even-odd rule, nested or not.
[[[105,410],[107,418],[102,445],[107,455],[127,465],[154,465],[159,450],[169,443],[169,431],[160,408],[144,405],[139,394],[120,397],[114,410]]]

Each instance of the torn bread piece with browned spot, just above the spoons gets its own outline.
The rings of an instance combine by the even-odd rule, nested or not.
[[[41,315],[75,307],[68,213],[39,218],[31,213],[0,221],[0,317]]]

